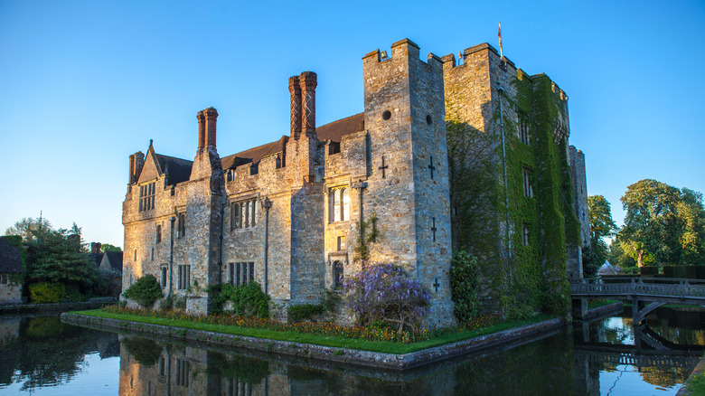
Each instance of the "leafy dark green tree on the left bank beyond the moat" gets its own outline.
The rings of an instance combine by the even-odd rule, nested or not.
[[[59,282],[67,287],[89,290],[98,278],[98,269],[81,251],[80,238],[70,238],[67,230],[33,231],[27,244],[27,282]]]

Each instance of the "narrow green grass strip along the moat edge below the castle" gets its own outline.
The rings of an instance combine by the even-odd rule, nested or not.
[[[111,312],[106,312],[100,309],[89,310],[89,311],[74,311],[72,314],[79,314],[85,316],[97,316],[97,317],[108,317],[111,319],[127,320],[131,322],[139,323],[149,323],[155,325],[167,325],[171,327],[182,327],[194,330],[204,330],[216,333],[224,333],[229,335],[242,335],[248,337],[257,338],[267,338],[270,340],[278,341],[292,341],[296,343],[305,344],[317,344],[324,346],[333,346],[337,348],[350,348],[350,349],[360,349],[363,351],[371,352],[381,352],[386,354],[409,354],[411,352],[417,352],[426,348],[431,348],[434,346],[439,346],[443,344],[455,343],[456,341],[463,341],[469,338],[476,337],[478,335],[489,335],[497,333],[503,330],[510,329],[512,327],[519,327],[522,325],[530,325],[534,323],[539,323],[544,320],[552,319],[555,316],[539,315],[533,316],[525,320],[514,320],[506,321],[496,325],[490,325],[487,327],[475,329],[475,330],[450,330],[442,335],[428,339],[426,341],[420,341],[418,343],[412,344],[402,344],[402,343],[392,343],[384,341],[368,341],[357,338],[348,338],[343,336],[332,336],[332,335],[312,335],[306,333],[299,333],[294,331],[276,331],[267,330],[259,328],[241,327],[234,325],[211,325],[204,323],[197,323],[188,320],[175,320],[175,319],[165,319],[159,317],[150,316],[137,316],[137,315],[127,315],[127,314],[114,314]]]

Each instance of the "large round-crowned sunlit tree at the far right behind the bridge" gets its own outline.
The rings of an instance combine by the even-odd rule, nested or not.
[[[705,263],[701,193],[644,179],[627,187],[620,201],[626,211],[623,248],[640,267],[647,254],[661,265]]]

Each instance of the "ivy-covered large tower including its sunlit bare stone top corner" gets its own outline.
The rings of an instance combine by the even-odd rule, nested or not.
[[[443,60],[454,250],[478,257],[484,310],[566,313],[567,245],[580,240],[567,97],[487,44]]]

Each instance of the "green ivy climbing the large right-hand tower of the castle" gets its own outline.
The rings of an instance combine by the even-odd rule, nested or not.
[[[503,119],[496,100],[484,105],[494,106],[487,109],[493,117],[485,119],[486,129],[503,127],[504,157],[500,133],[485,133],[465,123],[463,115],[447,113],[453,245],[478,259],[482,309],[510,318],[535,310],[564,314],[569,306],[566,247],[580,238],[566,142],[554,139],[564,104],[543,75],[530,79],[520,71],[513,89],[515,99],[501,97]],[[457,108],[452,100],[446,108]],[[529,144],[520,140],[512,112],[530,126]],[[524,193],[524,170],[533,196]]]

